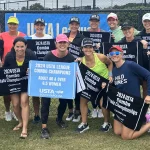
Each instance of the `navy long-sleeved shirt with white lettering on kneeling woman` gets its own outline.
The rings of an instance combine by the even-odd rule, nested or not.
[[[114,84],[117,89],[141,97],[140,78],[147,81],[147,95],[150,95],[150,72],[133,61],[125,61],[119,68],[113,69]]]

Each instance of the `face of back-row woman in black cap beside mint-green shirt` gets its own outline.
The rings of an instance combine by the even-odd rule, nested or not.
[[[134,28],[133,27],[123,28],[122,32],[126,38],[134,38]]]

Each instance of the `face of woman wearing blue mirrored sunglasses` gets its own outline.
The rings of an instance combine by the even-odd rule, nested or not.
[[[123,52],[117,51],[117,49],[112,49],[109,56],[114,63],[118,63],[122,60]]]

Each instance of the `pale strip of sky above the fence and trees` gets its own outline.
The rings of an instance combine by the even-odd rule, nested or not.
[[[18,0],[0,0],[0,3],[9,2],[9,1],[18,1]],[[20,0],[21,1],[21,0]],[[56,8],[56,1],[57,0],[37,0],[33,2],[29,2],[29,6],[34,3],[40,3],[41,5],[48,7],[48,8]],[[124,5],[126,3],[144,3],[144,0],[96,0],[96,7],[104,8],[110,7],[114,5]],[[150,3],[150,0],[146,0],[147,3]],[[93,7],[93,0],[58,0],[59,4],[58,7],[61,8],[63,5],[68,5],[71,7],[78,7],[78,6],[87,6],[90,5]],[[26,2],[16,2],[16,3],[9,3],[6,4],[6,9],[21,9],[23,6],[27,6]],[[4,5],[0,4],[0,8],[3,9]]]

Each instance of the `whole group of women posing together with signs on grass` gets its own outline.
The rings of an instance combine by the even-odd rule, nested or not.
[[[38,23],[43,24],[43,20],[38,19]],[[37,23],[36,22],[36,23]],[[147,42],[145,40],[136,39],[135,38],[135,29],[132,24],[130,24],[128,21],[124,22],[123,26],[121,28],[118,28],[118,17],[114,13],[110,13],[107,17],[108,25],[110,26],[110,29],[112,30],[112,37],[114,40],[117,39],[119,42],[134,42],[139,41],[143,44],[143,48],[147,48]],[[8,19],[8,32],[3,32],[0,34],[0,39],[4,41],[4,53],[1,58],[2,62],[0,62],[3,67],[16,67],[16,66],[28,66],[28,63],[30,60],[36,60],[35,54],[27,49],[27,42],[23,38],[25,34],[19,32],[18,25],[19,21],[16,17],[10,17]],[[100,17],[98,15],[91,15],[89,19],[90,23],[90,32],[104,32],[99,28],[100,24]],[[150,33],[150,14],[145,14],[142,19],[142,23],[144,26],[144,30],[142,32],[149,34]],[[67,48],[69,47],[69,43],[74,43],[81,47],[81,55],[80,58],[77,58],[76,61],[81,61],[83,64],[85,64],[87,67],[89,67],[94,72],[98,73],[100,76],[103,76],[104,78],[108,79],[110,83],[113,82],[113,78],[115,77],[116,70],[120,67],[123,67],[128,64],[123,59],[123,50],[120,48],[112,47],[110,49],[110,58],[111,60],[116,64],[116,67],[113,68],[112,61],[106,57],[103,54],[95,53],[94,51],[94,43],[90,38],[85,38],[82,34],[79,33],[79,27],[80,27],[80,21],[78,17],[72,17],[69,22],[70,32],[66,33],[64,35],[58,35],[56,39],[56,51],[50,52],[50,56],[45,56],[45,58],[49,57],[50,59],[57,58],[56,61],[61,58],[63,62],[65,62],[66,56],[68,57]],[[115,32],[116,31],[116,32]],[[138,34],[142,34],[142,32]],[[119,34],[119,36],[117,35]],[[120,36],[120,33],[123,34],[123,38]],[[43,34],[44,36],[44,34]],[[42,36],[42,38],[43,38]],[[119,37],[121,37],[119,39]],[[61,40],[60,40],[60,39]],[[65,39],[65,41],[63,41]],[[65,53],[64,50],[65,49]],[[62,53],[63,51],[63,53]],[[63,55],[62,55],[63,54]],[[148,53],[149,54],[149,53]],[[71,57],[71,56],[69,56]],[[148,59],[147,54],[145,55],[145,58]],[[61,60],[59,59],[59,60]],[[71,58],[73,59],[73,58]],[[46,59],[45,59],[46,60]],[[67,62],[67,61],[66,61]],[[146,61],[147,65],[148,60]],[[129,63],[130,64],[130,63]],[[132,69],[134,70],[137,67],[137,64],[131,64]],[[133,74],[136,74],[136,78],[142,77],[143,81],[143,98],[145,99],[146,103],[150,103],[150,97],[149,97],[149,76],[150,73],[146,69],[138,66],[139,72],[137,73],[133,71]],[[116,69],[116,70],[115,70]],[[114,71],[115,70],[115,71]],[[143,76],[141,74],[141,71],[143,72]],[[144,73],[145,72],[145,73]],[[113,74],[114,73],[114,74]],[[118,75],[118,74],[117,74]],[[145,81],[146,80],[146,81]],[[148,88],[146,86],[148,85]],[[122,85],[124,86],[124,85]],[[140,86],[140,84],[137,84],[137,86]],[[117,87],[117,86],[116,86]],[[121,87],[117,87],[121,88]],[[148,89],[148,90],[147,90]],[[125,90],[125,92],[129,92],[128,89]],[[147,92],[148,91],[148,92]],[[139,92],[135,93],[135,96],[139,96]],[[107,98],[107,93],[105,91],[101,94],[101,101],[100,105],[102,106],[102,101]],[[4,96],[4,104],[6,108],[6,120],[11,120],[12,113],[10,112],[10,100],[13,104],[14,109],[14,117],[16,117],[19,121],[19,124],[13,129],[16,130],[22,130],[21,131],[21,138],[26,138],[28,136],[28,120],[29,120],[29,97],[26,92],[22,92],[19,94],[11,94],[10,96]],[[73,101],[66,101],[68,103],[69,107],[69,115],[66,118],[67,121],[73,120],[74,122],[79,122],[80,120],[80,113],[82,117],[82,122],[78,126],[77,131],[79,133],[82,133],[89,129],[89,125],[87,123],[87,113],[88,113],[88,100],[80,97],[79,94],[76,94],[75,98],[75,111],[73,112]],[[39,107],[39,106],[38,106]],[[56,122],[57,124],[65,128],[64,122],[62,121],[62,117],[65,113],[65,111],[61,112],[60,110],[61,106],[58,107],[58,113],[61,114],[61,119],[58,120],[57,118]],[[65,107],[64,107],[65,108]],[[65,109],[64,109],[65,110]],[[101,130],[104,132],[109,131],[111,128],[111,124],[109,122],[110,112],[109,110],[106,110],[102,108],[103,115],[104,115],[104,124],[101,126]],[[49,109],[48,109],[49,111]],[[59,112],[60,111],[60,112]],[[43,113],[44,114],[44,113]],[[45,116],[44,116],[45,117]],[[59,116],[58,116],[59,117]],[[43,118],[42,118],[43,119]],[[45,123],[46,124],[46,123]],[[43,125],[43,124],[42,124]],[[150,123],[145,124],[140,131],[133,131],[131,129],[128,129],[124,125],[122,125],[116,118],[114,117],[114,132],[117,135],[121,135],[123,139],[134,139],[139,137],[141,134],[146,132],[150,128]],[[42,126],[42,138],[49,138],[49,131],[47,129],[46,125]]]

